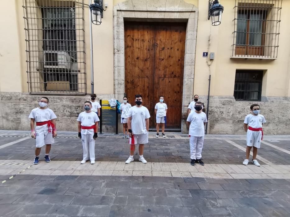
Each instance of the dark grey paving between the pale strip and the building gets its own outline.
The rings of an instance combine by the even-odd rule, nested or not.
[[[10,131],[8,131],[10,132]],[[17,132],[17,131],[16,131]],[[12,131],[12,134],[16,134]],[[63,132],[63,135],[71,135],[73,132]],[[1,131],[0,131],[1,134]],[[3,135],[2,131],[2,135]],[[177,137],[180,134],[174,134]],[[7,135],[7,132],[6,134]],[[24,135],[19,133],[18,135]],[[214,138],[215,136],[215,138]],[[240,165],[245,158],[245,152],[238,147],[235,147],[231,143],[225,140],[232,138],[239,147],[245,148],[246,141],[245,136],[236,135],[206,135],[204,142],[204,148],[202,156],[206,164],[236,164]],[[284,139],[287,136],[283,136]],[[19,139],[19,137],[1,137],[8,139],[7,141]],[[185,137],[183,137],[185,138]],[[209,139],[208,139],[209,138]],[[224,139],[223,139],[224,138]],[[275,136],[271,136],[275,138]],[[290,137],[289,137],[290,138]],[[277,139],[281,139],[281,136],[277,136]],[[14,141],[15,141],[14,140]],[[274,143],[277,147],[280,145],[284,150],[290,149],[290,143],[288,140],[275,140]],[[270,141],[268,141],[270,143]],[[0,145],[1,147],[1,145]],[[0,159],[10,160],[30,160],[34,159],[34,139],[26,139],[16,144],[10,145],[0,149]],[[137,146],[138,147],[138,146]],[[137,150],[137,148],[136,148]],[[53,161],[81,161],[82,160],[82,146],[80,139],[76,137],[61,137],[56,138],[55,143],[52,146],[50,158]],[[129,145],[127,139],[122,139],[120,136],[114,137],[114,135],[105,135],[99,137],[96,140],[95,154],[97,161],[113,161],[122,162],[125,161],[129,155]],[[137,152],[136,158],[138,157]],[[40,160],[44,160],[44,148],[41,152]],[[275,149],[265,144],[261,144],[261,148],[258,155],[264,159],[270,159],[273,164],[289,165],[290,156],[281,150]],[[144,156],[148,162],[176,162],[187,163],[190,161],[190,148],[189,139],[149,139],[149,143],[145,144]],[[274,157],[273,157],[274,156]],[[267,164],[267,162],[261,161],[261,165]],[[199,171],[192,171],[199,172]],[[121,173],[119,173],[121,174]],[[124,174],[123,174],[124,175]]]

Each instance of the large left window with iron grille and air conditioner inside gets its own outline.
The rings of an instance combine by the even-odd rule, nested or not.
[[[23,0],[30,93],[86,93],[83,0]]]

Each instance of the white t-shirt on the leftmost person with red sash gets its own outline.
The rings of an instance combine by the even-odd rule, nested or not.
[[[34,118],[35,122],[44,122],[53,120],[57,117],[53,112],[53,110],[51,110],[50,108],[46,109],[34,108],[30,112],[29,118]],[[42,126],[35,126],[35,130],[48,130],[48,126],[47,124],[44,124]]]

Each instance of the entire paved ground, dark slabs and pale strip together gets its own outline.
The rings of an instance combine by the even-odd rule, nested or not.
[[[290,136],[265,136],[257,167],[242,165],[244,135],[206,135],[191,166],[187,135],[150,133],[142,164],[125,164],[122,135],[100,135],[81,165],[75,132],[58,132],[52,162],[33,165],[28,131],[0,131],[0,216],[290,216]]]

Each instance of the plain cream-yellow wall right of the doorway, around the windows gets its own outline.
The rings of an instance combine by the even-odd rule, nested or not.
[[[236,69],[262,69],[266,71],[262,83],[262,96],[290,96],[290,65],[288,64],[290,60],[290,42],[288,40],[290,15],[287,11],[287,8],[290,7],[290,1],[283,1],[282,4],[277,60],[230,59],[235,1],[223,0],[220,3],[224,7],[222,23],[219,26],[211,26],[211,20],[207,20],[206,13],[208,2],[199,1],[194,93],[199,95],[207,95],[208,93],[209,68],[206,64],[206,58],[202,57],[202,52],[207,52],[210,34],[209,52],[215,53],[214,62],[210,67],[210,95],[233,96]]]

